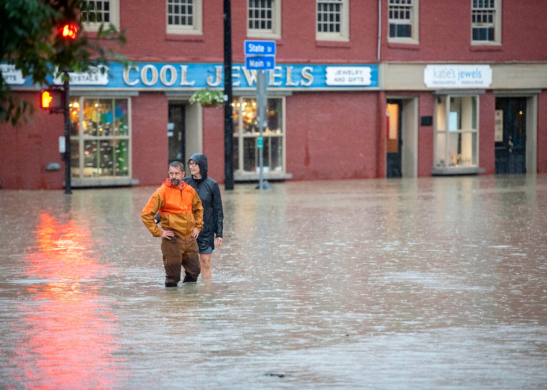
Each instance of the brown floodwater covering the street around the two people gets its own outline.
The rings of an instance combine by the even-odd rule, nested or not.
[[[547,386],[547,175],[236,185],[176,288],[153,191],[0,191],[0,387]]]

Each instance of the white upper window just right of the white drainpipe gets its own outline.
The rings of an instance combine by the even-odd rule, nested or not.
[[[418,0],[389,0],[389,42],[418,43]]]

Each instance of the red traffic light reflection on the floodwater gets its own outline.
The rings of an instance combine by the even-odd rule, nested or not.
[[[87,226],[44,212],[35,233],[38,245],[22,265],[45,282],[28,286],[30,300],[21,306],[16,379],[31,388],[108,388],[119,380],[117,318],[93,280],[108,267],[94,257]]]

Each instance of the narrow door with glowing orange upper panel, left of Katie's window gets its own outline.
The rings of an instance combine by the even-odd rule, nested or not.
[[[398,99],[387,99],[387,177],[400,178],[401,170],[401,114],[403,102]]]

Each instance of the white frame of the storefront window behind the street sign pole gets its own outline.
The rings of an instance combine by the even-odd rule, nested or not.
[[[241,107],[243,104],[243,99],[255,99],[256,95],[249,95],[249,94],[240,94],[237,96],[234,96],[234,100],[237,99],[237,104],[239,104],[237,107]],[[283,169],[280,171],[270,171],[271,174],[286,174],[287,173],[287,126],[285,122],[285,116],[286,116],[286,98],[284,96],[271,96],[269,99],[280,99],[281,100],[281,126],[282,126],[282,132],[281,133],[263,133],[264,137],[264,143],[266,143],[269,138],[272,137],[281,137],[282,138],[282,144],[283,144],[283,153],[282,153],[282,167]],[[232,103],[233,104],[233,103]],[[233,106],[232,106],[233,107]],[[234,125],[234,139],[238,140],[238,155],[237,155],[237,161],[238,161],[238,169],[234,170],[234,173],[238,174],[241,177],[249,176],[251,178],[252,176],[257,175],[257,172],[249,172],[245,169],[243,169],[243,140],[246,138],[253,138],[257,139],[259,137],[259,133],[244,133],[243,132],[243,117],[241,115],[241,108],[238,108],[240,111],[238,115],[238,121],[237,121],[237,128]],[[271,148],[269,149],[271,153]],[[257,157],[255,158],[255,166],[258,167],[258,148],[256,149]],[[267,158],[264,156],[264,161],[266,161]],[[267,178],[268,173],[265,173],[265,178]]]

